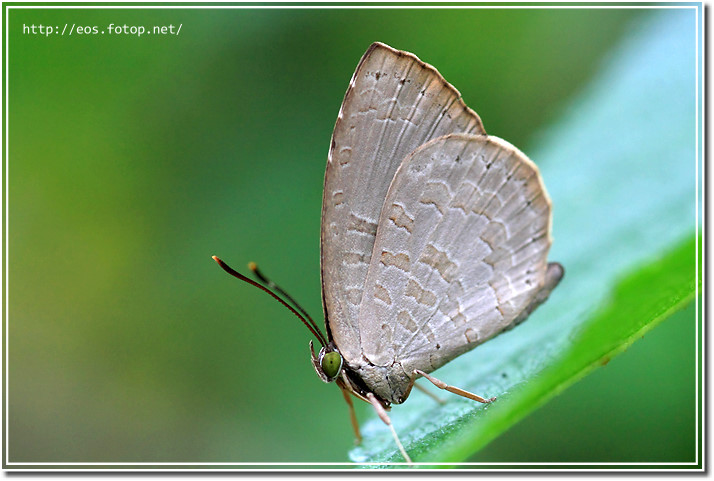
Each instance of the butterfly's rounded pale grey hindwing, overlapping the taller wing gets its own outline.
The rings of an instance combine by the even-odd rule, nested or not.
[[[462,134],[420,147],[380,214],[362,353],[430,372],[503,331],[543,286],[549,231],[537,168],[515,147]]]

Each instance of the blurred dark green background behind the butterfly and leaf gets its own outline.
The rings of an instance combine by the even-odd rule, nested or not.
[[[322,176],[371,42],[436,65],[489,133],[528,152],[651,15],[10,10],[7,461],[347,461],[347,409],[315,375],[307,330],[210,256],[256,261],[321,319]],[[181,31],[23,33],[65,23]],[[693,460],[693,317],[673,316],[474,460]]]

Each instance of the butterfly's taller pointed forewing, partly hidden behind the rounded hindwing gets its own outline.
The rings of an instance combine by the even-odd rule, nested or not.
[[[394,173],[417,147],[452,132],[484,130],[436,69],[413,54],[373,44],[345,94],[325,172],[323,297],[329,331],[346,359],[360,356],[359,306]]]

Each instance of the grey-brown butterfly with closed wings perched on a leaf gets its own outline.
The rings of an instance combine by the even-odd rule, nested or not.
[[[419,377],[524,321],[563,277],[548,263],[551,202],[536,165],[486,134],[478,115],[415,55],[372,44],[332,134],[322,204],[325,337],[252,268],[322,344],[325,382],[386,413]],[[293,309],[300,311],[302,316]],[[418,386],[418,385],[417,385]]]

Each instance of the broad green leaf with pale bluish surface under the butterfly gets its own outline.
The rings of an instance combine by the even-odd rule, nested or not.
[[[528,322],[435,373],[496,402],[444,393],[448,402],[437,405],[413,394],[393,409],[415,462],[464,461],[694,300],[695,35],[693,11],[635,26],[540,145],[526,149],[553,200],[550,259],[565,278]],[[403,461],[376,417],[362,434],[353,461]]]

